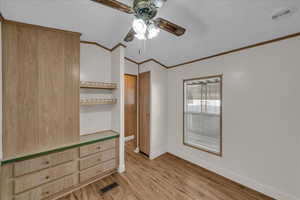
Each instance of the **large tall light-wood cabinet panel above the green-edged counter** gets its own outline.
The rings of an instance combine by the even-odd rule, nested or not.
[[[4,158],[79,139],[79,34],[3,23]]]

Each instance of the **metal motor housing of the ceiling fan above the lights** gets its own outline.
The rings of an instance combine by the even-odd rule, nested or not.
[[[157,8],[151,0],[134,0],[133,9],[135,16],[145,22],[153,19],[157,14]]]

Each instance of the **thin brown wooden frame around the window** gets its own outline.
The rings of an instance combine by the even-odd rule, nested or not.
[[[210,78],[220,78],[220,152],[214,152],[214,151],[210,151],[208,149],[205,148],[201,148],[201,147],[196,147],[193,146],[191,144],[188,144],[185,142],[185,103],[186,103],[186,98],[185,98],[185,82],[187,81],[192,81],[192,80],[202,80],[202,79],[210,79]],[[183,79],[183,84],[182,84],[183,88],[182,88],[182,96],[183,96],[183,103],[182,103],[182,120],[183,120],[183,145],[184,146],[188,146],[206,153],[210,153],[219,157],[223,156],[223,74],[219,74],[219,75],[212,75],[212,76],[203,76],[203,77],[197,77],[197,78],[190,78],[190,79]]]

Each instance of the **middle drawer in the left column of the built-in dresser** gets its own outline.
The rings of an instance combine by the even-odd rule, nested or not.
[[[40,186],[41,184],[48,183],[72,174],[76,171],[76,168],[76,162],[69,162],[53,168],[42,170],[40,172],[15,178],[14,193],[17,194],[36,186]]]

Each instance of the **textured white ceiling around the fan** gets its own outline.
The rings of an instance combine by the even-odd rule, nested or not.
[[[283,8],[293,14],[272,20]],[[299,0],[168,0],[158,15],[185,27],[186,34],[161,31],[145,44],[136,39],[124,43],[126,56],[138,62],[154,58],[170,66],[300,32],[299,8]],[[123,42],[133,20],[90,0],[0,0],[0,11],[10,20],[81,32],[82,40],[109,48]]]

